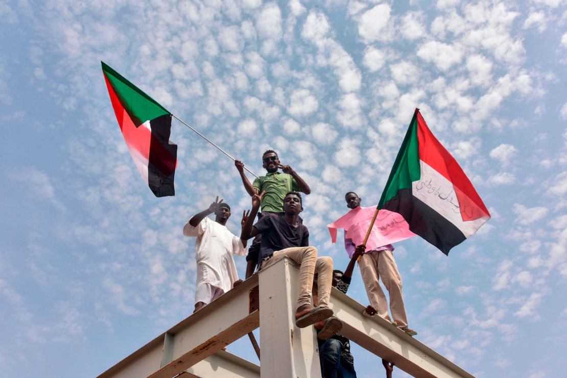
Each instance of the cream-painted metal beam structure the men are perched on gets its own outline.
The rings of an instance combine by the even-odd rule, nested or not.
[[[295,327],[299,269],[283,259],[193,313],[129,355],[109,377],[320,377],[313,327]],[[362,316],[364,306],[332,289],[341,334],[416,377],[473,377],[388,321]],[[260,366],[222,347],[260,328]],[[377,363],[377,366],[379,364]]]

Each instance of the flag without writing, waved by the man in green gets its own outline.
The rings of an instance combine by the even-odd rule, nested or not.
[[[177,145],[171,143],[171,113],[102,63],[112,108],[134,164],[156,197],[175,195]]]

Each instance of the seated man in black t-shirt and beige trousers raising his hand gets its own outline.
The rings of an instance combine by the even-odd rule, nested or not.
[[[255,225],[252,225],[260,208],[261,195],[252,196],[252,211],[242,227],[240,238],[248,240],[257,234],[262,235],[260,251],[255,259],[259,269],[289,257],[300,265],[299,295],[295,311],[295,325],[299,328],[324,321],[323,329],[318,337],[327,340],[342,328],[342,322],[333,315],[329,308],[331,284],[333,276],[333,260],[329,256],[318,257],[317,248],[309,246],[309,231],[299,222],[299,213],[303,211],[301,194],[289,192],[284,197],[284,213],[266,214]],[[318,273],[319,306],[311,306],[311,290],[313,276]],[[246,278],[251,273],[247,272]]]

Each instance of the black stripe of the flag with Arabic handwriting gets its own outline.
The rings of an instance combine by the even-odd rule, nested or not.
[[[445,255],[466,239],[458,227],[414,197],[409,188],[400,189],[382,208],[401,214],[414,234],[420,235]]]

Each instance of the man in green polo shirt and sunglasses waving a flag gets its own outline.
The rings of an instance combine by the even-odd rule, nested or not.
[[[236,169],[240,173],[244,188],[250,196],[265,192],[262,196],[260,208],[264,213],[283,213],[284,198],[290,191],[301,191],[304,194],[310,194],[311,189],[296,171],[289,165],[282,165],[276,151],[269,149],[262,155],[262,166],[266,169],[265,176],[256,178],[251,184],[246,174],[244,174],[244,163],[236,160],[234,162]],[[283,173],[279,171],[282,169]],[[252,245],[248,248],[248,266],[246,268],[246,277],[250,276],[256,267],[256,257],[260,251],[261,234],[258,234]]]

